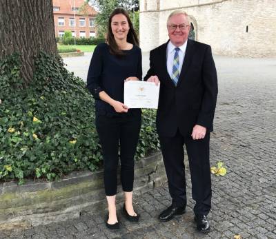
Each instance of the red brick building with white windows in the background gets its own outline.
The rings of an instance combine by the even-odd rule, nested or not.
[[[77,38],[96,37],[97,12],[88,5],[79,11],[83,3],[84,0],[52,0],[56,37],[63,37],[66,30],[70,30],[72,36]]]

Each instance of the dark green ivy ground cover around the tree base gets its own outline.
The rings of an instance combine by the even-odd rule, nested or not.
[[[41,52],[30,85],[19,54],[0,62],[0,180],[55,180],[73,170],[97,170],[101,147],[94,100],[59,56]],[[155,111],[144,110],[136,158],[159,149]]]

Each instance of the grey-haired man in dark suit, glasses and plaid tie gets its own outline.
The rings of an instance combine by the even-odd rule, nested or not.
[[[210,231],[206,218],[211,208],[209,139],[217,101],[217,72],[210,45],[188,39],[186,12],[172,12],[167,21],[169,41],[150,51],[145,81],[159,83],[157,132],[168,177],[172,205],[159,220],[184,214],[186,181],[184,144],[188,154],[195,222]]]

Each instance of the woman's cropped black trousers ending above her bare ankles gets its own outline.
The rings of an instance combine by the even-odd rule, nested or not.
[[[121,185],[132,191],[134,157],[141,127],[141,114],[124,116],[96,116],[96,127],[103,151],[103,178],[106,196],[117,194],[119,149]]]

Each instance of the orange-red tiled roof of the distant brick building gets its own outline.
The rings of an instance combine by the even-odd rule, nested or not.
[[[85,3],[84,0],[52,0],[52,6],[53,7],[59,7],[59,11],[55,11],[55,14],[74,14],[74,11],[72,11],[72,8],[74,7],[74,1],[75,1],[75,8],[81,8],[83,6],[83,3]],[[97,12],[94,8],[86,5],[86,9],[83,11],[85,14],[89,15],[96,15]],[[75,12],[75,14],[79,14],[79,12]]]

